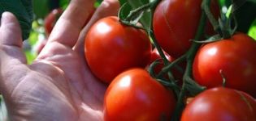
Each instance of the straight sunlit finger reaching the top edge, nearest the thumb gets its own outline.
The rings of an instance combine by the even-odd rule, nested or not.
[[[72,48],[93,11],[94,2],[95,0],[72,0],[55,24],[48,42],[58,42]]]

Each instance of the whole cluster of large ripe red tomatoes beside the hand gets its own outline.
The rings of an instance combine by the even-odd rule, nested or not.
[[[218,16],[216,2],[211,2],[210,9]],[[118,17],[100,19],[90,28],[85,37],[85,59],[95,77],[108,85],[104,98],[106,121],[170,120],[173,116],[181,117],[181,121],[256,120],[256,42],[241,32],[198,48],[190,75],[206,90],[184,105],[182,114],[174,113],[183,90],[173,90],[169,80],[180,89],[188,85],[184,72],[189,57],[184,58],[188,60],[184,61],[186,65],[172,66],[169,73],[163,68],[189,54],[193,44],[190,40],[202,13],[201,3],[163,0],[156,7],[153,31],[165,58],[152,48],[145,31],[121,23]],[[212,31],[206,22],[204,34],[211,35]],[[158,65],[150,66],[154,62]],[[154,76],[146,71],[149,68],[154,68]],[[188,98],[193,94],[184,95]]]

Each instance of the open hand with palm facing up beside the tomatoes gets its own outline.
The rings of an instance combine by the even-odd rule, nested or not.
[[[103,120],[106,85],[85,61],[86,32],[98,19],[117,15],[119,2],[72,0],[32,65],[22,52],[20,26],[4,12],[0,27],[0,94],[12,121]],[[88,23],[85,23],[89,19]]]

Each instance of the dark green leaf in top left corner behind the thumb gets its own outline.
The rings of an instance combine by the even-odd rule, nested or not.
[[[32,27],[33,2],[32,0],[1,0],[0,14],[10,11],[19,19],[22,29],[22,38],[26,40]]]

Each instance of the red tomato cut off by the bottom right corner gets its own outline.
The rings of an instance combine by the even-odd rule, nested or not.
[[[254,98],[238,90],[216,87],[193,98],[181,121],[256,121],[255,114]]]

